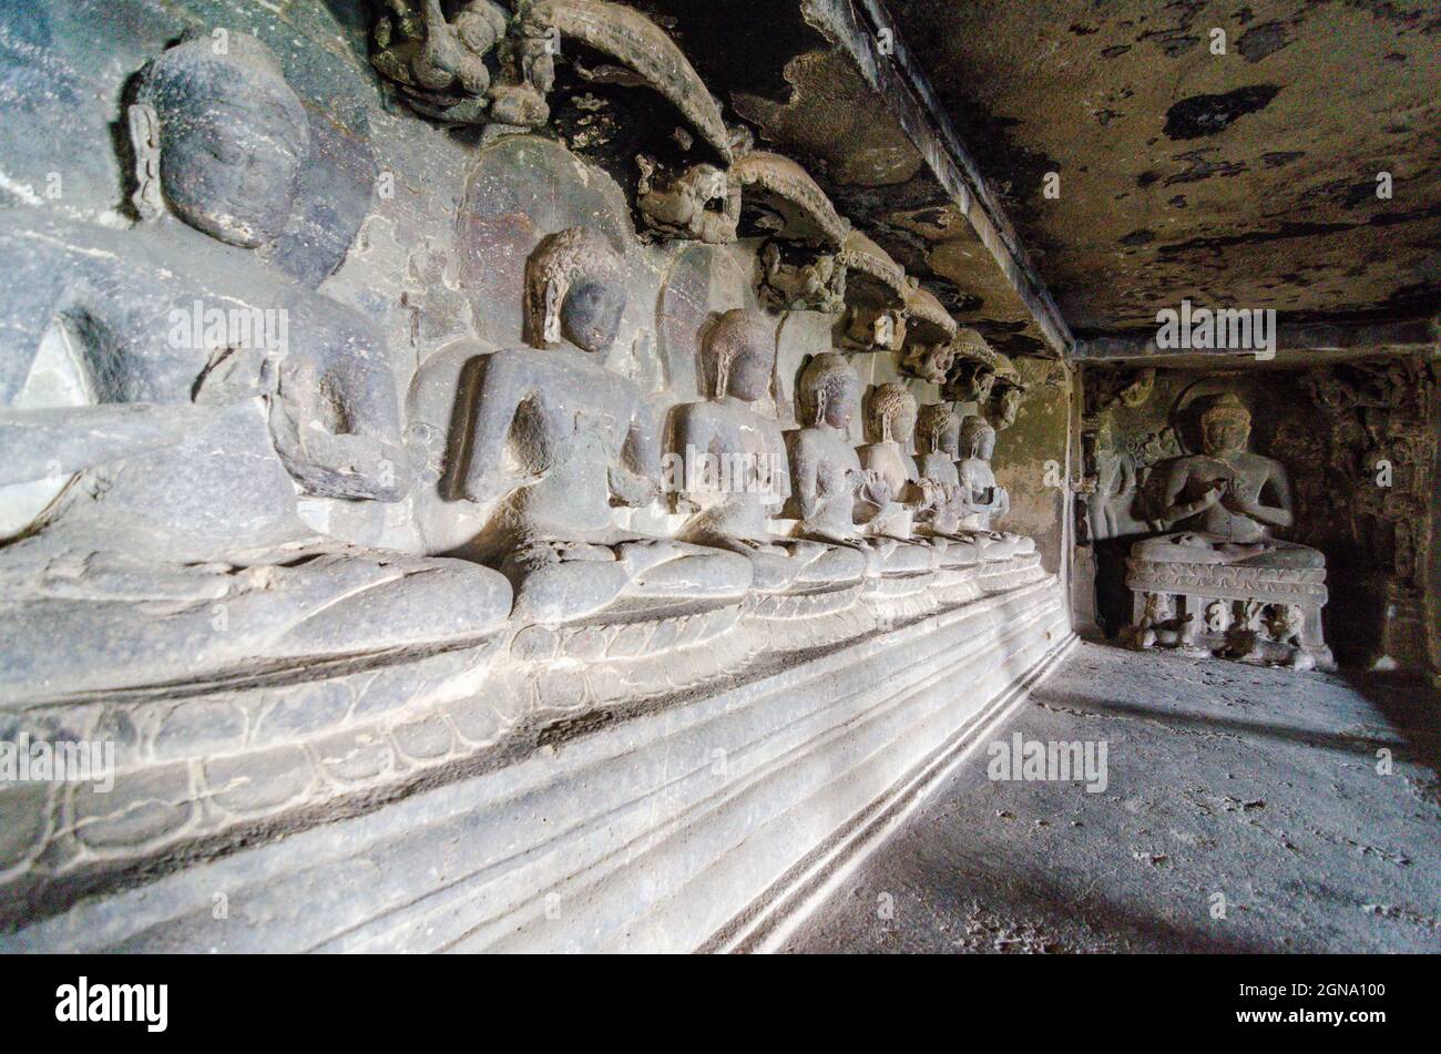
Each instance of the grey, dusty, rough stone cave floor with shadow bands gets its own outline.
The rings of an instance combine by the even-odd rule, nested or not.
[[[1082,645],[787,949],[1441,952],[1438,711],[1424,685]],[[989,779],[1016,731],[1107,742],[1107,789]]]

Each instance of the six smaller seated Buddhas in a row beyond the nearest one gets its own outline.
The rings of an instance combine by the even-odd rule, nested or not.
[[[552,235],[526,271],[530,347],[480,361],[451,475],[458,497],[496,507],[484,551],[513,583],[520,618],[574,618],[621,596],[735,596],[1032,551],[1029,539],[990,530],[1007,498],[989,465],[994,429],[981,418],[961,426],[947,405],[925,407],[918,465],[905,446],[915,400],[904,384],[882,384],[867,407],[872,442],[857,449],[849,429],[860,379],[827,351],[801,373],[801,428],[782,435],[757,409],[775,371],[774,327],[758,312],[733,310],[709,328],[709,397],[673,407],[661,429],[641,393],[601,364],[625,298],[621,261],[601,235]],[[667,484],[664,452],[684,467],[738,471],[683,471]],[[614,505],[647,505],[669,488],[689,513],[673,539],[615,527]]]

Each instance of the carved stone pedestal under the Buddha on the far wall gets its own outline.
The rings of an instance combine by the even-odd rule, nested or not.
[[[1179,648],[1261,665],[1334,670],[1321,631],[1326,570],[1131,557],[1134,648]]]

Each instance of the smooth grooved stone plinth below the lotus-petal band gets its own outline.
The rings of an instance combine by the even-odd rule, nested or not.
[[[0,946],[695,947],[1068,632],[1053,580],[1020,586],[367,815],[95,897]],[[994,665],[997,655],[1010,659]],[[849,695],[836,690],[847,677]],[[957,683],[970,708],[954,706]],[[726,752],[726,776],[710,772],[715,749]],[[817,779],[816,766],[834,775]],[[748,805],[757,796],[774,805],[764,829]],[[562,828],[578,806],[586,818]],[[733,884],[729,900],[702,903],[706,875]],[[651,878],[664,888],[637,886]],[[216,891],[232,917],[264,922],[212,920]],[[552,904],[559,920],[545,917]],[[643,934],[625,916],[637,906],[659,911]],[[516,932],[527,914],[530,929]]]

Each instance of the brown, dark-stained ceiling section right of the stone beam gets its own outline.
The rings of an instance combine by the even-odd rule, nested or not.
[[[1196,289],[1291,321],[1437,311],[1427,4],[891,7],[1078,335]]]

